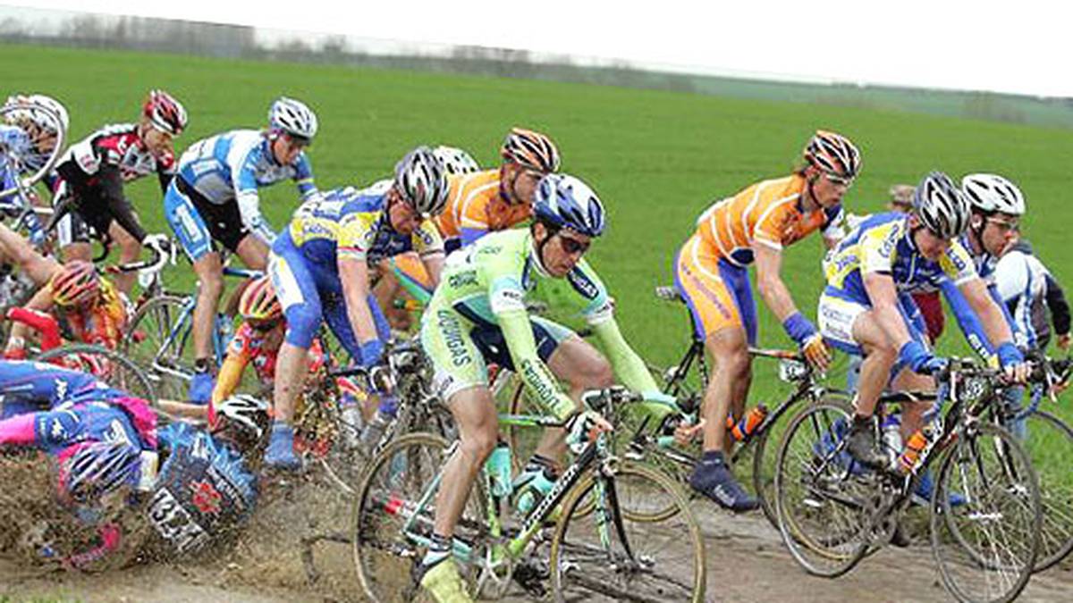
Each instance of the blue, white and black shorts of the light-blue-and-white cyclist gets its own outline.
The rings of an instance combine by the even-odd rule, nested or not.
[[[191,262],[217,251],[217,242],[237,251],[238,244],[250,234],[237,203],[217,205],[180,176],[172,179],[164,193],[164,218]]]

